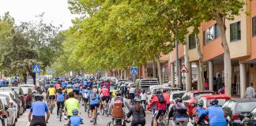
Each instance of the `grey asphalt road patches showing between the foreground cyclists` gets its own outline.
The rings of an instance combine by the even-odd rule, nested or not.
[[[57,112],[56,112],[56,108],[54,109],[53,113],[51,114],[49,123],[47,124],[47,126],[64,126],[64,124],[66,124],[67,120],[62,120],[59,121],[57,118]],[[84,111],[84,106],[81,106],[80,104],[80,112],[81,112],[81,117],[83,118],[83,122],[84,124],[82,124],[81,126],[92,126],[92,123],[90,123],[90,120],[88,118],[87,113],[85,113]],[[128,113],[128,110],[126,110],[126,113]],[[150,126],[151,125],[151,120],[152,120],[152,112],[146,112],[146,126]],[[106,126],[108,122],[111,121],[111,116],[106,117],[106,116],[100,116],[97,119],[97,126]],[[29,126],[29,122],[28,122],[28,109],[26,110],[26,112],[17,120],[17,126]],[[126,124],[126,125],[130,125],[130,124]],[[191,124],[189,124],[191,125]],[[171,126],[171,124],[170,124]]]

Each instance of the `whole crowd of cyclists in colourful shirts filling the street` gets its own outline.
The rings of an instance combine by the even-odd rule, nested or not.
[[[167,124],[168,120],[173,120],[172,125],[174,126],[186,125],[189,121],[186,106],[181,98],[175,100],[175,106],[169,107],[170,95],[167,91],[158,90],[155,97],[146,106],[147,94],[145,90],[137,89],[134,84],[129,87],[125,83],[115,84],[111,80],[55,77],[51,80],[51,83],[44,86],[43,93],[36,95],[35,98],[36,102],[32,104],[30,117],[28,117],[28,120],[32,121],[31,126],[46,124],[55,106],[57,106],[57,118],[63,110],[64,119],[68,119],[66,125],[70,126],[83,124],[83,119],[79,115],[86,112],[90,122],[94,125],[96,125],[97,115],[100,113],[104,115],[105,113],[106,116],[111,115],[112,117],[109,125],[123,125],[130,122],[129,118],[132,116],[131,126],[138,124],[144,126],[146,124],[145,110],[153,111],[152,126]],[[47,105],[42,101],[47,101]],[[80,102],[85,109],[79,108]],[[199,119],[195,124],[201,124],[201,120],[209,115],[211,126],[226,125],[222,121],[221,117],[224,117],[224,113],[220,110],[221,108],[218,108],[217,101],[214,100],[210,103],[211,107],[206,110],[197,109],[195,114],[198,114]],[[199,108],[201,104],[198,103]],[[39,108],[45,109],[37,114],[36,109]],[[129,113],[125,114],[125,108],[129,110]],[[42,120],[44,113],[47,113],[47,120]],[[31,115],[33,116],[32,120]],[[41,120],[38,120],[38,118],[41,118]]]

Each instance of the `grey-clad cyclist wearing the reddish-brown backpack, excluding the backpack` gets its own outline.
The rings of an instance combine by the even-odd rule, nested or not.
[[[122,94],[120,91],[116,91],[116,97],[111,99],[110,106],[108,108],[108,114],[115,113],[115,109],[113,107],[115,106],[116,102],[122,103],[122,113],[124,113],[124,108],[127,107],[130,110],[130,104],[127,101],[126,98],[122,97]],[[113,111],[112,111],[113,109]]]

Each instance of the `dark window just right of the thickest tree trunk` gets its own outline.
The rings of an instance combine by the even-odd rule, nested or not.
[[[241,39],[240,22],[230,24],[230,41],[237,41]]]

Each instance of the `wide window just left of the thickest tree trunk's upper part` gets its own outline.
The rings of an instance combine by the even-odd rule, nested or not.
[[[214,24],[213,26],[204,31],[205,44],[208,44],[219,37],[220,27],[217,24]]]

